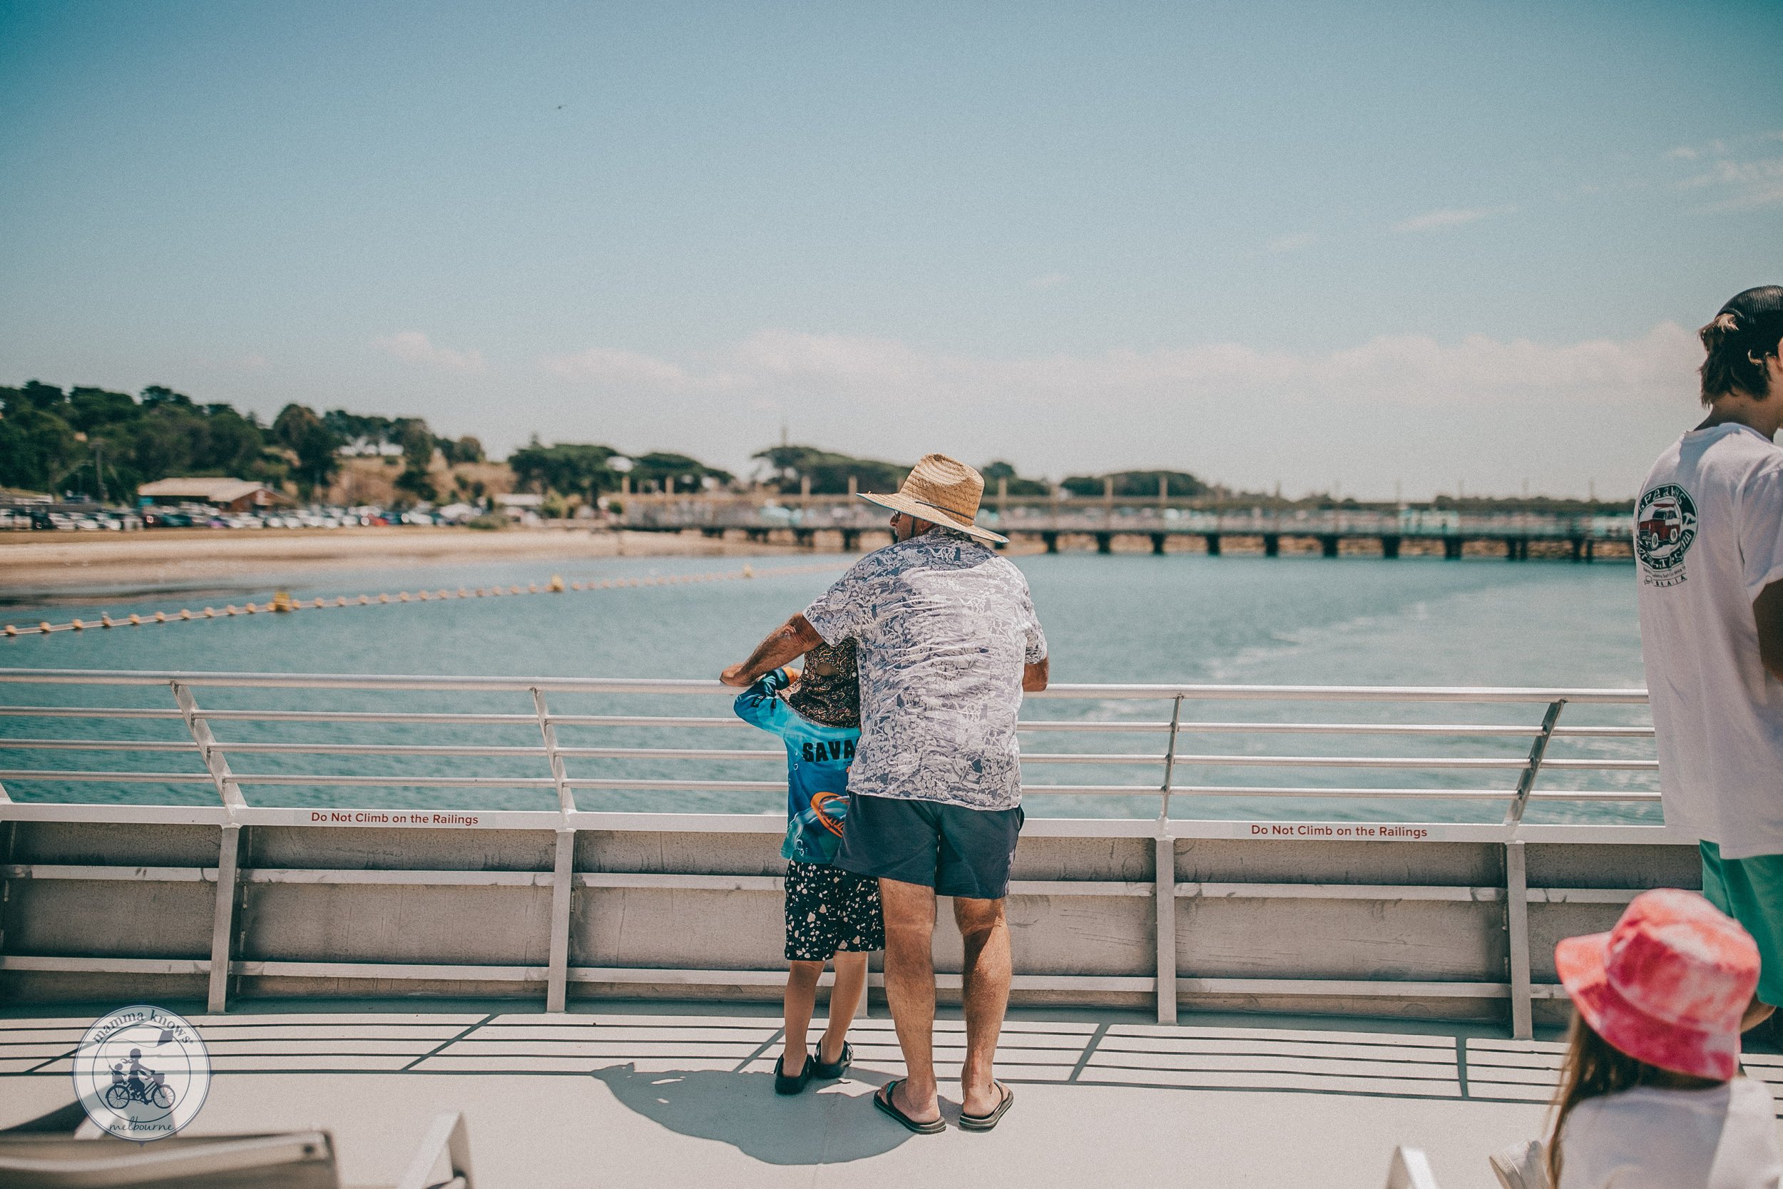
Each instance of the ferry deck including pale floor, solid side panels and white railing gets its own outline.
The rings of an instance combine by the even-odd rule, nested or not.
[[[212,1055],[216,1080],[189,1134],[323,1128],[349,1185],[448,1182],[453,1159],[423,1141],[440,1116],[458,1114],[458,1171],[474,1185],[1373,1187],[1387,1184],[1403,1146],[1428,1157],[1432,1177],[1398,1184],[1491,1187],[1487,1157],[1541,1134],[1555,1084],[1565,1004],[1553,941],[1608,927],[1644,888],[1696,884],[1694,847],[1664,825],[1526,820],[1544,800],[1656,799],[1640,784],[1651,759],[1628,750],[1651,749],[1651,727],[1565,717],[1573,706],[1639,711],[1639,690],[1057,686],[1045,697],[1161,702],[1164,713],[1029,729],[1150,734],[1161,747],[1029,750],[1031,797],[1143,791],[1161,811],[1029,818],[1009,907],[1016,982],[998,1050],[1016,1103],[991,1134],[915,1136],[868,1103],[902,1070],[877,973],[849,1077],[799,1098],[772,1095],[783,980],[776,815],[576,802],[579,790],[781,788],[619,768],[640,750],[701,763],[774,752],[572,738],[638,724],[704,729],[722,717],[569,715],[547,702],[587,692],[710,699],[719,693],[710,683],[59,670],[0,681],[12,693],[0,708],[9,718],[0,747],[9,763],[37,758],[0,772],[12,793],[0,802],[0,1127],[68,1105],[71,1050],[96,1014],[155,1002],[185,1013]],[[314,733],[267,742],[242,731],[344,718],[269,693],[328,688],[376,693],[374,709],[351,715],[423,742],[317,743]],[[405,702],[417,692],[483,704]],[[1298,711],[1211,722],[1196,713],[1204,702],[1302,711],[1334,702],[1352,713],[1401,704],[1444,717],[1394,708],[1389,718],[1353,715],[1359,722]],[[1482,706],[1524,708],[1532,722],[1455,717]],[[39,734],[27,738],[18,720],[36,720]],[[465,720],[524,722],[535,742],[506,750],[424,742],[428,729]],[[146,727],[132,736],[141,724],[185,738],[144,738]],[[1259,747],[1214,754],[1187,743],[1196,731],[1246,729]],[[1273,745],[1282,734],[1323,745],[1289,754]],[[148,763],[157,749],[187,767]],[[496,750],[538,772],[437,767]],[[57,767],[68,752],[86,754]],[[102,752],[114,759],[93,759]],[[332,768],[289,767],[300,759]],[[1125,763],[1145,783],[1036,775],[1091,759],[1097,770]],[[1375,813],[1343,818],[1168,813],[1170,797],[1236,788],[1189,783],[1221,765],[1385,768],[1423,784],[1245,786],[1253,797],[1335,791],[1375,802]],[[1555,774],[1567,775],[1544,786]],[[34,781],[64,790],[185,781],[212,799],[52,802],[27,799]],[[555,795],[558,809],[316,811],[264,804],[276,793],[259,790],[251,804],[242,791],[478,781],[522,783]],[[1492,813],[1430,822],[1394,816],[1394,799],[1489,802]],[[943,1000],[957,996],[949,973],[957,961],[943,906]],[[954,1009],[941,1016],[945,1098],[961,1025]],[[1749,1052],[1746,1064],[1783,1080],[1772,1052]],[[428,1160],[419,1171],[417,1152]]]

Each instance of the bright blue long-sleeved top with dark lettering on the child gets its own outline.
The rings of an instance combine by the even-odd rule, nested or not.
[[[831,863],[849,816],[849,765],[858,727],[811,722],[779,697],[792,674],[776,668],[736,695],[736,717],[786,742],[786,841],[783,859]]]

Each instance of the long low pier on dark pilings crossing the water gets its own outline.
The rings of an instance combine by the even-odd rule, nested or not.
[[[1118,504],[1098,501],[1015,503],[979,515],[979,524],[1011,542],[1045,553],[1066,547],[1097,553],[1252,553],[1262,556],[1318,554],[1327,558],[1371,554],[1380,558],[1498,556],[1598,562],[1633,558],[1633,522],[1626,513],[1469,513],[1441,508],[1403,510],[1264,510],[1184,508],[1168,503]],[[742,537],[761,544],[815,549],[820,535],[854,553],[890,540],[886,515],[859,501],[826,497],[779,499],[667,499],[633,496],[620,526],[645,533],[699,531],[706,537]]]

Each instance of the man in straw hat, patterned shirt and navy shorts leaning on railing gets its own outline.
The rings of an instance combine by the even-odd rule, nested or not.
[[[943,1130],[934,1080],[934,898],[954,898],[965,941],[966,1061],[959,1127],[990,1130],[1015,1102],[991,1075],[1009,1002],[1004,897],[1022,831],[1015,718],[1023,690],[1047,688],[1047,636],[1022,570],[974,524],[984,478],[927,455],[893,496],[892,538],[804,613],[724,670],[744,686],[817,644],[852,636],[861,738],[836,866],[879,879],[886,1000],[908,1077],[874,1105],[904,1127]]]

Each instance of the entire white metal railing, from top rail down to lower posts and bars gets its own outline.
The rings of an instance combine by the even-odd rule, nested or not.
[[[12,879],[50,879],[50,881],[178,881],[194,879],[216,882],[212,907],[210,957],[209,959],[141,959],[112,955],[7,955],[0,954],[0,970],[46,970],[46,972],[123,972],[123,973],[178,973],[191,970],[205,973],[209,979],[207,1000],[212,1011],[223,1011],[228,1000],[228,980],[232,975],[298,975],[298,977],[389,977],[389,979],[512,979],[528,980],[542,977],[546,984],[546,1005],[562,1011],[571,982],[686,982],[711,986],[765,986],[772,980],[772,972],[726,972],[726,970],[658,970],[658,968],[581,968],[571,963],[571,904],[576,890],[606,888],[711,888],[711,890],[770,890],[776,884],[768,875],[701,875],[701,873],[628,873],[578,870],[576,834],[578,831],[654,831],[654,829],[699,829],[699,831],[747,831],[772,832],[777,824],[765,816],[738,816],[715,813],[683,813],[686,806],[665,799],[663,808],[672,813],[601,813],[581,809],[576,793],[581,790],[631,790],[660,793],[776,793],[785,790],[781,779],[727,779],[711,775],[715,767],[729,765],[765,765],[781,763],[779,747],[722,747],[713,740],[695,738],[710,731],[731,731],[747,724],[727,713],[670,715],[644,713],[656,706],[647,702],[656,699],[729,699],[735,690],[715,681],[651,681],[651,679],[574,679],[574,677],[424,677],[424,676],[333,676],[333,674],[205,674],[205,672],[94,672],[94,670],[0,670],[0,685],[12,690],[0,695],[0,763],[12,763],[12,758],[52,759],[68,754],[128,754],[130,767],[103,770],[91,767],[53,767],[37,763],[34,767],[0,768],[0,781],[12,783],[14,788],[39,804],[0,804],[0,820],[53,820],[53,822],[193,822],[219,829],[216,866],[182,868],[143,868],[116,865],[68,865],[52,866],[11,865],[0,868],[0,882]],[[89,701],[87,686],[107,686],[112,693],[103,702],[143,704],[98,704]],[[29,695],[29,697],[27,697]],[[307,701],[316,695],[335,699],[337,704],[326,708],[267,704],[278,699]],[[472,708],[439,706],[440,699],[474,695],[480,704]],[[522,697],[524,695],[524,697]],[[200,697],[203,701],[200,701]],[[515,709],[489,708],[489,699],[512,697]],[[551,709],[547,699],[592,699],[594,702],[617,701],[620,713],[608,713],[606,706],[596,706],[588,713],[565,713]],[[1569,706],[1601,708],[1585,718],[1623,715],[1639,711],[1646,702],[1644,690],[1567,690],[1567,688],[1457,688],[1457,686],[1227,686],[1227,685],[1056,685],[1043,693],[1031,695],[1043,706],[1068,706],[1072,702],[1091,702],[1088,713],[1109,713],[1109,708],[1152,702],[1168,708],[1168,715],[1146,718],[1066,718],[1050,715],[1022,722],[1022,731],[1041,740],[1045,736],[1066,736],[1080,740],[1105,738],[1114,733],[1129,733],[1146,740],[1145,750],[1095,752],[1095,750],[1041,750],[1023,749],[1023,763],[1039,770],[1052,770],[1054,765],[1091,765],[1107,767],[1116,772],[1132,774],[1127,783],[1107,784],[1052,784],[1025,783],[1029,797],[1052,795],[1105,795],[1105,797],[1143,797],[1155,802],[1157,818],[1146,820],[1105,820],[1105,822],[1032,822],[1029,832],[1057,834],[1070,838],[1102,836],[1146,836],[1154,843],[1152,877],[1148,881],[1105,879],[1041,879],[1016,881],[1011,884],[1013,895],[1041,897],[1143,897],[1152,902],[1155,968],[1146,975],[1029,975],[1018,977],[1018,986],[1047,991],[1150,991],[1157,996],[1159,1021],[1177,1018],[1179,993],[1221,993],[1221,995],[1325,995],[1325,996],[1435,996],[1478,998],[1505,996],[1510,1002],[1510,1023],[1516,1036],[1530,1036],[1532,1009],[1537,998],[1555,995],[1553,988],[1539,986],[1532,980],[1530,964],[1530,904],[1623,904],[1635,895],[1630,888],[1530,888],[1524,866],[1524,836],[1533,841],[1615,841],[1615,843],[1681,843],[1664,829],[1647,827],[1530,827],[1523,825],[1523,815],[1537,800],[1553,802],[1656,802],[1653,788],[1539,788],[1544,774],[1621,774],[1624,779],[1637,777],[1651,784],[1656,761],[1647,754],[1653,729],[1639,722],[1598,722],[1574,720],[1562,724]],[[71,701],[78,699],[78,701]],[[398,699],[410,699],[399,702]],[[244,704],[250,701],[253,704]],[[1328,720],[1327,717],[1300,722],[1293,718],[1232,718],[1227,704],[1255,704],[1280,709],[1303,702],[1321,702],[1343,706],[1380,706],[1394,718],[1368,720],[1360,709],[1352,709],[1357,720]],[[1221,717],[1198,718],[1193,711],[1198,706],[1221,709]],[[1416,708],[1428,715],[1432,708],[1473,708],[1471,718],[1489,718],[1480,708],[1505,709],[1524,708],[1530,711],[1523,722],[1407,722],[1414,717],[1401,713],[1401,708]],[[1617,709],[1621,708],[1621,709]],[[596,713],[599,711],[599,713]],[[1535,722],[1539,713],[1539,722]],[[94,724],[98,724],[94,727]],[[29,727],[27,734],[16,727]],[[325,738],[301,738],[305,729],[321,729]],[[364,729],[382,729],[385,738],[371,742],[342,740],[342,734]],[[415,742],[426,731],[456,731],[456,738]],[[223,731],[226,738],[219,738]],[[465,731],[471,731],[465,738]],[[526,743],[503,742],[501,733],[524,731]],[[606,733],[588,745],[585,733]],[[260,733],[259,736],[255,733]],[[679,743],[704,745],[654,745],[661,734],[670,734]],[[574,742],[563,742],[562,734],[574,734]],[[1382,742],[1400,742],[1394,754],[1376,754],[1366,750],[1359,754],[1286,754],[1286,752],[1246,752],[1246,750],[1202,750],[1187,743],[1196,736],[1237,738],[1266,743],[1275,736],[1300,734],[1325,743],[1323,750],[1332,752],[1335,742],[1348,740],[1353,745]],[[722,742],[722,736],[720,740]],[[638,745],[633,745],[638,743]],[[1155,743],[1155,745],[1154,745]],[[1434,749],[1432,754],[1403,754],[1414,750],[1414,743]],[[1526,747],[1523,747],[1526,743]],[[1612,747],[1631,754],[1587,754],[1587,756],[1549,756],[1553,745]],[[1467,749],[1492,749],[1492,754],[1467,752]],[[1514,749],[1514,750],[1507,750]],[[1462,754],[1467,752],[1467,754]],[[184,761],[184,770],[150,770],[150,758]],[[326,761],[326,770],[301,768],[294,761]],[[91,761],[89,761],[91,763]],[[510,770],[494,774],[467,772],[471,765],[508,765]],[[679,775],[640,775],[640,765],[678,765]],[[271,765],[262,767],[262,765]],[[283,767],[278,767],[283,765]],[[703,775],[686,775],[694,772]],[[1498,775],[1492,786],[1385,786],[1385,788],[1346,788],[1314,784],[1218,784],[1211,783],[1204,770],[1237,768],[1282,768],[1293,772],[1355,772],[1385,770],[1405,774],[1439,774],[1439,779],[1473,779],[1475,775]],[[596,775],[592,775],[596,774]],[[1571,779],[1578,779],[1576,775]],[[185,793],[184,804],[144,806],[136,800],[128,806],[96,804],[78,795],[80,788],[94,784],[137,786],[137,790],[178,790]],[[1482,781],[1483,784],[1483,781]],[[535,804],[555,802],[547,813],[506,813],[496,809],[481,813],[481,820],[464,816],[448,808],[428,806],[426,813],[339,813],[339,804],[330,804],[332,813],[301,809],[253,806],[244,795],[244,788],[323,788],[333,790],[333,797],[351,795],[349,790],[378,788],[435,788],[435,790],[471,790],[474,795],[487,795],[492,790],[521,790],[535,799]],[[27,791],[29,790],[29,791]],[[209,790],[209,795],[191,799],[193,790]],[[59,799],[41,804],[45,797]],[[458,795],[465,795],[460,791]],[[1294,829],[1311,831],[1309,836],[1343,838],[1350,831],[1332,824],[1298,825],[1282,829],[1280,825],[1234,824],[1234,822],[1193,822],[1171,816],[1171,799],[1325,799],[1357,800],[1403,799],[1444,800],[1462,804],[1503,806],[1501,824],[1478,824],[1446,829],[1444,838],[1467,841],[1471,845],[1501,847],[1503,881],[1501,886],[1448,884],[1355,884],[1355,882],[1236,882],[1236,884],[1200,884],[1177,881],[1177,841],[1182,838],[1298,838]],[[0,802],[7,802],[5,790],[0,788]],[[711,808],[710,802],[704,808]],[[330,822],[380,825],[407,829],[414,818],[426,816],[437,822],[440,815],[453,825],[481,825],[499,829],[546,829],[555,831],[555,849],[551,870],[283,870],[253,868],[241,863],[242,829],[262,825],[308,825]],[[1496,816],[1496,815],[1494,815]],[[1428,820],[1428,818],[1426,818]],[[1651,820],[1651,818],[1649,818]],[[1400,818],[1403,822],[1403,818]],[[674,825],[658,825],[674,824]],[[1414,820],[1416,824],[1416,820]],[[1400,825],[1355,827],[1357,838],[1405,838],[1426,836],[1425,829],[1407,831]],[[1564,838],[1562,838],[1564,836]],[[533,966],[487,966],[487,964],[401,964],[401,963],[333,963],[333,961],[260,961],[242,955],[244,941],[237,936],[241,925],[241,897],[248,884],[264,882],[408,882],[428,886],[549,886],[549,957],[542,968]],[[1442,902],[1478,902],[1503,906],[1503,929],[1507,932],[1507,968],[1503,979],[1487,982],[1475,980],[1403,980],[1403,979],[1255,979],[1255,977],[1179,977],[1177,966],[1177,904],[1196,897],[1239,897],[1239,898],[1378,898],[1378,900],[1442,900]]]

